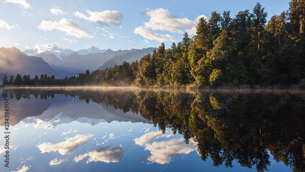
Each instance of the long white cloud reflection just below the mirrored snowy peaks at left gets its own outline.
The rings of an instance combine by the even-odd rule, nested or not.
[[[92,134],[77,134],[74,137],[66,137],[66,141],[62,141],[56,144],[51,142],[44,142],[36,146],[41,151],[41,153],[58,151],[58,153],[61,155],[65,155],[67,153],[72,153],[76,148],[78,148],[78,146],[86,144],[91,137],[93,137]]]

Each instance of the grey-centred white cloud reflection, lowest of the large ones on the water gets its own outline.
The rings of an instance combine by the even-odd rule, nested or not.
[[[107,146],[105,148],[96,149],[94,151],[85,153],[83,155],[79,155],[79,156],[75,157],[73,161],[78,162],[78,161],[83,160],[87,156],[89,156],[86,163],[90,163],[92,161],[94,161],[94,162],[102,161],[105,163],[110,163],[110,162],[117,163],[123,158],[124,151],[122,150],[122,145],[118,145],[109,150],[106,150],[108,148],[109,148],[109,146]]]

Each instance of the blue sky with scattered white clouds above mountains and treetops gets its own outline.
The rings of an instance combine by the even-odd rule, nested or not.
[[[289,8],[288,0],[214,0],[214,1],[83,1],[83,0],[5,0],[0,6],[0,47],[142,49],[164,42],[180,42],[184,32],[190,37],[197,21],[212,11],[239,11],[260,2],[267,20]]]

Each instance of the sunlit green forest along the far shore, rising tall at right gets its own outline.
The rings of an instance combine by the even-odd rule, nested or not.
[[[162,43],[131,64],[77,76],[30,79],[3,78],[3,85],[103,85],[202,88],[221,85],[305,84],[305,1],[291,0],[289,9],[267,22],[257,3],[231,18],[230,11],[199,20],[196,34],[184,34],[168,49]],[[18,79],[17,79],[18,77]]]

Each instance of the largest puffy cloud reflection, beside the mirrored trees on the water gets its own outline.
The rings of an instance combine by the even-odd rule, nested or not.
[[[149,150],[151,156],[147,157],[148,163],[165,164],[173,157],[183,158],[186,154],[197,150],[197,143],[191,140],[185,144],[184,139],[172,139],[170,141],[153,142],[145,144],[145,150]]]

